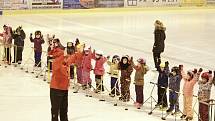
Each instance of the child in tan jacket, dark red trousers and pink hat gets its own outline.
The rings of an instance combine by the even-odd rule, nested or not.
[[[135,105],[138,109],[140,109],[144,101],[144,95],[143,95],[144,75],[148,71],[148,66],[146,65],[145,59],[143,58],[139,58],[137,62],[138,62],[137,65],[134,65],[134,63],[132,62],[132,66],[136,70],[135,76],[134,76],[134,84],[135,84],[135,92],[136,92]]]

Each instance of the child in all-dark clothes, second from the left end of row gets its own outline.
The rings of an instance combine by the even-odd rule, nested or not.
[[[13,32],[13,39],[14,39],[14,61],[13,63],[21,64],[22,63],[22,52],[24,49],[24,39],[26,35],[23,31],[22,27],[19,26],[14,32]]]

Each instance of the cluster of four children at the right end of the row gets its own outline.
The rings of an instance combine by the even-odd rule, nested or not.
[[[168,62],[161,63],[158,69],[158,102],[156,106],[160,108],[167,108],[167,91],[169,91],[170,107],[166,110],[171,113],[175,110],[174,114],[182,113],[182,119],[193,119],[193,90],[196,83],[199,84],[198,99],[199,99],[199,121],[208,121],[210,93],[212,84],[215,85],[215,72],[212,76],[212,71],[203,72],[203,69],[189,70],[185,72],[183,65],[175,66],[169,70]],[[201,79],[200,79],[201,75]],[[181,80],[184,81],[183,91],[180,92]],[[183,112],[179,109],[179,96],[183,95]]]

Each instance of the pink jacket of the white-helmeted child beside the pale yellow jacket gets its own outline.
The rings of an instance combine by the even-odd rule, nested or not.
[[[96,61],[94,74],[104,75],[105,74],[104,63],[107,61],[107,58],[102,56],[99,60],[96,60],[95,53],[93,53],[93,59]]]

